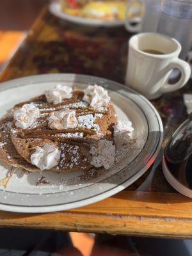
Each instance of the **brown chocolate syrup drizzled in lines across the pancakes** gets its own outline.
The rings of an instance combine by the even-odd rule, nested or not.
[[[18,135],[20,136],[20,138],[24,138],[24,139],[45,138],[45,139],[50,139],[52,141],[65,142],[68,144],[74,144],[74,145],[80,144],[82,146],[88,146],[90,143],[88,140],[86,140],[86,135],[94,135],[96,133],[94,129],[76,127],[76,128],[70,128],[70,129],[56,130],[56,129],[50,129],[48,127],[48,122],[47,122],[47,116],[49,116],[50,113],[54,111],[59,111],[61,109],[64,110],[65,106],[68,104],[82,102],[83,95],[84,95],[83,92],[76,90],[73,92],[73,97],[71,99],[65,99],[65,102],[61,102],[60,104],[54,104],[54,105],[47,104],[45,95],[34,98],[33,102],[36,104],[36,106],[38,106],[38,108],[40,109],[40,112],[44,113],[45,115],[38,118],[38,121],[40,122],[40,124],[38,124],[36,127],[21,130],[19,131]],[[27,103],[31,103],[31,102],[30,101],[23,102],[22,104],[17,104],[16,107],[21,107],[23,104],[27,104]],[[74,108],[72,106],[67,106],[66,109],[76,110],[76,116],[83,116],[83,115],[90,115],[90,114],[95,115],[96,113],[106,115],[107,113],[107,111],[99,111],[90,106],[86,106],[85,108],[81,108],[81,107]],[[43,124],[41,123],[42,121],[43,121]],[[74,134],[76,132],[83,132],[84,134],[83,138],[73,138],[73,137],[67,138],[62,136],[56,136],[56,134],[66,134],[66,133]]]

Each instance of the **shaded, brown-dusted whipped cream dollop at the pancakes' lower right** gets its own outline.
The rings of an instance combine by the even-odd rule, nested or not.
[[[90,155],[92,156],[90,164],[95,167],[104,166],[108,170],[115,161],[115,145],[113,145],[113,141],[99,140],[93,143]]]

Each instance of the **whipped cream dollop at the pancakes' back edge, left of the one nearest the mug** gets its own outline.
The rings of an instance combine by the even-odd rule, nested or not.
[[[57,84],[54,89],[45,92],[45,97],[47,102],[58,104],[63,99],[70,99],[72,97],[72,88],[62,84]]]

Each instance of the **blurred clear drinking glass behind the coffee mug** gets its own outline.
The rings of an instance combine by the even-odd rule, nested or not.
[[[164,0],[157,32],[177,39],[182,45],[179,57],[186,60],[192,42],[192,0]]]

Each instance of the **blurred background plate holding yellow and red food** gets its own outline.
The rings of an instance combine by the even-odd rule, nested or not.
[[[55,0],[50,12],[61,19],[85,26],[124,26],[127,1]]]

